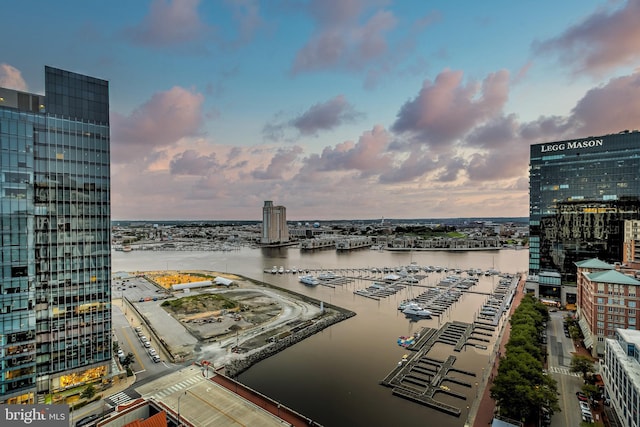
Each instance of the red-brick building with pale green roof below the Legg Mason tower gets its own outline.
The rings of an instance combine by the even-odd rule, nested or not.
[[[584,346],[594,356],[604,354],[604,341],[616,329],[637,329],[640,281],[599,259],[576,263],[577,318]]]

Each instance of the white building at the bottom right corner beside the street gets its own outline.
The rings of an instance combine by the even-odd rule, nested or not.
[[[616,329],[601,359],[605,395],[624,427],[640,426],[640,332]]]

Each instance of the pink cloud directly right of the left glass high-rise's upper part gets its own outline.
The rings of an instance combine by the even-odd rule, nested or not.
[[[203,100],[201,94],[176,86],[154,94],[129,116],[112,113],[112,161],[150,158],[181,138],[197,135]]]

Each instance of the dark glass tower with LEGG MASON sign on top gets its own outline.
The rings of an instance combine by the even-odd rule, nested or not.
[[[624,221],[640,218],[640,132],[531,146],[529,273],[539,296],[576,303],[576,265],[623,259]]]

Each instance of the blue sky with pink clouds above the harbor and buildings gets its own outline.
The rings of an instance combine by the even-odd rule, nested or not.
[[[640,0],[4,2],[0,86],[109,81],[114,220],[526,217],[531,144],[640,127]]]

